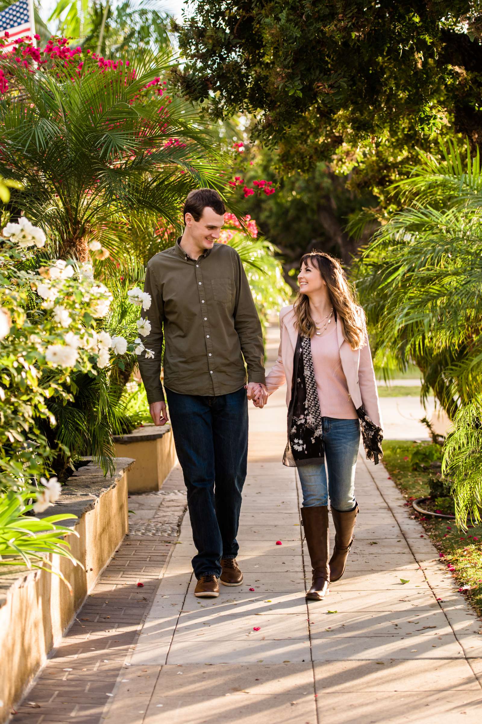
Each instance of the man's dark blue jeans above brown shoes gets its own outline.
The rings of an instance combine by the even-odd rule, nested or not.
[[[179,395],[172,390],[165,394],[197,548],[194,574],[219,578],[221,558],[238,555],[236,535],[248,458],[246,390],[218,397]]]

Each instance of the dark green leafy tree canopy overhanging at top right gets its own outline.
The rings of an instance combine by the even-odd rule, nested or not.
[[[174,25],[181,88],[213,117],[252,114],[286,169],[330,161],[350,185],[386,185],[443,130],[482,137],[478,0],[194,1]]]

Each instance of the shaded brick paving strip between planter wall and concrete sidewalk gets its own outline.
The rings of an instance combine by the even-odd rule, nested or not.
[[[176,547],[186,510],[178,468],[155,494],[129,497],[126,536],[13,716],[15,724],[98,724]],[[142,586],[137,584],[142,583]]]

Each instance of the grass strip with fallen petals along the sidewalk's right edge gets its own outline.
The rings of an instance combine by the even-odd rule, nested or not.
[[[416,447],[415,442],[401,440],[383,443],[385,467],[408,501],[429,495],[428,473],[414,471],[410,463],[411,452]],[[445,513],[442,499],[439,505]],[[470,526],[467,531],[461,531],[455,521],[418,515],[411,506],[409,512],[421,521],[431,541],[443,554],[444,563],[455,568],[452,573],[456,583],[460,587],[470,586],[464,593],[478,615],[482,615],[482,526]]]

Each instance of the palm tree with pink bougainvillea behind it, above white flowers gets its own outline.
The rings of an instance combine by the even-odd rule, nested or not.
[[[67,62],[27,70],[1,60],[12,80],[0,98],[0,175],[24,186],[7,209],[49,227],[60,256],[85,261],[92,239],[119,256],[120,222],[178,224],[191,188],[223,188],[216,139],[190,104],[166,93],[168,54]]]

